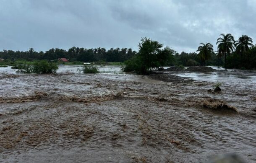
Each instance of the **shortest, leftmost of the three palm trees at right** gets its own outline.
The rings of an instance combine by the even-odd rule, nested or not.
[[[214,54],[213,45],[210,43],[201,43],[200,45],[196,52],[199,52],[198,57],[202,61],[202,64],[205,65],[205,61],[211,59],[212,54]]]

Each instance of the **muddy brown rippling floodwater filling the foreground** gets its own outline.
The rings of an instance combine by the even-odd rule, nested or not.
[[[256,73],[246,73],[2,72],[0,162],[255,162]],[[214,75],[227,78],[220,93],[207,91]]]

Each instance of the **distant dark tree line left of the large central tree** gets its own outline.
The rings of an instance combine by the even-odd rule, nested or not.
[[[57,60],[58,58],[67,58],[70,61],[82,61],[82,62],[94,62],[94,61],[106,61],[106,62],[124,62],[130,59],[136,54],[136,51],[128,48],[105,48],[85,49],[79,47],[72,47],[68,51],[64,49],[50,49],[46,52],[36,52],[33,48],[29,48],[29,51],[12,51],[3,50],[0,52],[0,58],[3,59],[25,59],[25,60]]]

